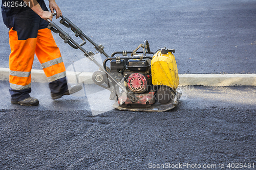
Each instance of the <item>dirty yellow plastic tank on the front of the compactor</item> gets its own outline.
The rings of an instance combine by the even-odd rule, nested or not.
[[[153,85],[165,85],[172,87],[174,90],[177,89],[180,82],[172,50],[162,48],[153,56],[151,60],[151,74]]]

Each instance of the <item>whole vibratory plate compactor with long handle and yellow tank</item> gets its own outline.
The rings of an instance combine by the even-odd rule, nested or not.
[[[56,15],[53,14],[53,15]],[[118,110],[162,112],[173,109],[181,96],[178,89],[179,76],[173,53],[174,49],[159,49],[156,53],[150,51],[147,40],[134,51],[118,51],[108,56],[102,45],[97,45],[86,36],[67,17],[61,16],[60,23],[82,39],[78,44],[69,34],[48,19],[48,28],[76,49],[80,49],[86,57],[93,61],[99,70],[94,72],[95,84],[111,91],[110,100],[115,101],[113,107]],[[101,65],[94,58],[94,53],[87,52],[82,47],[89,41],[106,59]],[[138,51],[142,48],[142,51]],[[110,68],[106,63],[110,62]]]

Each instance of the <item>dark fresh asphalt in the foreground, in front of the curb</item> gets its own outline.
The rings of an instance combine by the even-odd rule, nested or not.
[[[52,101],[47,84],[32,83],[40,104],[25,107],[10,104],[7,87],[2,81],[0,169],[166,169],[153,168],[166,163],[207,169],[254,163],[242,169],[255,169],[255,87],[182,87],[170,111],[94,116],[87,96]]]

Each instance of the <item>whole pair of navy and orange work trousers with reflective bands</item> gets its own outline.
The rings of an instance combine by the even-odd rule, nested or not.
[[[38,1],[48,11],[44,1]],[[31,69],[36,54],[49,82],[52,94],[68,90],[66,69],[48,22],[34,11],[20,7],[19,13],[3,8],[3,20],[9,30],[10,93],[12,101],[28,98],[31,92]],[[13,10],[15,12],[15,10]],[[17,10],[16,10],[17,11]]]

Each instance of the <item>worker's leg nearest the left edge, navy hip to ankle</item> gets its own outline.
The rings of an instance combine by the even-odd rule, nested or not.
[[[31,9],[17,13],[12,21],[6,20],[13,26],[9,31],[11,54],[10,68],[10,94],[11,102],[30,98],[31,69],[34,60],[36,37],[40,18]],[[28,103],[28,101],[26,101]],[[37,102],[38,103],[38,102]],[[28,103],[29,105],[31,102]]]

